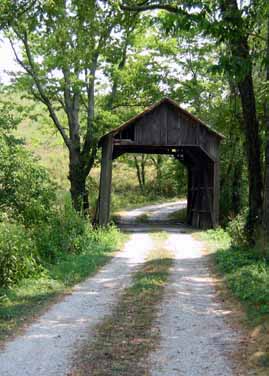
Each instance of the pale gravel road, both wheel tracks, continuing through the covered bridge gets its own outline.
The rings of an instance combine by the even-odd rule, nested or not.
[[[89,333],[93,335],[96,324],[117,304],[121,290],[153,247],[151,221],[163,223],[169,213],[185,206],[179,201],[129,211],[124,220],[133,234],[124,250],[0,350],[0,376],[66,375],[85,335],[89,341]],[[132,220],[145,213],[148,223],[140,231]],[[168,226],[163,229],[175,263],[155,322],[161,341],[150,356],[150,375],[238,375],[230,359],[240,336],[227,325],[227,312],[216,301],[202,243],[183,227]]]

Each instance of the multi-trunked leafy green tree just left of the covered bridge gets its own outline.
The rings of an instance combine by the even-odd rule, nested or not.
[[[7,36],[23,67],[18,81],[42,102],[69,152],[73,205],[87,211],[86,179],[102,132],[95,114],[96,77],[106,49],[120,38],[124,15],[116,3],[35,2],[8,23]]]

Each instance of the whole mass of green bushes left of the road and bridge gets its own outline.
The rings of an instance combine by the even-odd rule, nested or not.
[[[118,237],[112,228],[94,230],[90,219],[75,212],[70,199],[59,203],[47,170],[14,136],[16,124],[10,109],[0,107],[1,286],[18,284],[41,270],[45,273],[52,263],[65,270],[67,257],[90,254],[92,249],[97,257],[99,251],[111,249]],[[87,275],[89,261],[84,268],[76,259],[72,262],[76,275]]]

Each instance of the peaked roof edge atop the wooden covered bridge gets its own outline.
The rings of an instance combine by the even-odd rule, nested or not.
[[[172,105],[174,108],[176,108],[177,110],[179,110],[180,112],[182,112],[183,114],[185,114],[187,117],[191,118],[192,120],[194,120],[196,123],[202,125],[203,127],[205,127],[210,133],[212,133],[213,135],[215,135],[217,138],[219,139],[224,139],[225,136],[217,131],[215,131],[214,129],[212,129],[209,125],[207,125],[206,123],[204,123],[202,120],[200,120],[199,118],[197,118],[196,116],[192,115],[190,112],[184,110],[182,107],[180,107],[173,99],[170,99],[168,97],[164,97],[162,98],[161,100],[159,100],[158,102],[154,103],[152,106],[146,108],[144,111],[140,112],[138,115],[135,115],[134,117],[132,117],[131,119],[129,119],[128,121],[126,121],[125,123],[121,124],[119,127],[115,128],[115,129],[112,129],[112,131],[106,133],[104,136],[101,137],[100,141],[99,141],[99,145],[102,143],[103,139],[108,136],[108,135],[113,135],[115,136],[117,133],[123,131],[125,128],[131,126],[132,124],[134,124],[138,119],[142,118],[144,115],[148,114],[149,112],[153,111],[155,108],[159,107],[160,105],[162,105],[163,103],[169,103],[170,105]]]

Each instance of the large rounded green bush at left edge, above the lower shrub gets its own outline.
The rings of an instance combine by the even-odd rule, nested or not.
[[[55,185],[21,141],[0,132],[0,209],[27,226],[50,215]]]

